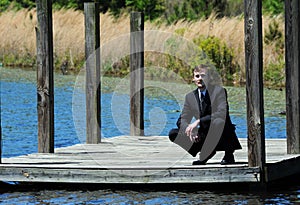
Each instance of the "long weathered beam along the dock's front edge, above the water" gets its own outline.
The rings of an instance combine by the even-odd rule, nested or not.
[[[258,182],[258,168],[221,169],[41,169],[9,167],[0,169],[1,181],[63,183],[223,183]]]

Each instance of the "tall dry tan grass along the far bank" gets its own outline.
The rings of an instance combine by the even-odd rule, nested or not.
[[[263,17],[264,28],[267,28],[273,20],[270,17]],[[277,20],[280,25],[279,30],[283,32],[283,19]],[[105,49],[103,52],[109,50],[106,59],[109,59],[110,65],[114,65],[120,60],[118,58],[129,53],[129,45],[120,44],[120,38],[126,39],[121,42],[129,42],[130,19],[128,15],[115,19],[109,14],[101,14],[100,21],[101,45],[108,45],[108,47],[103,47]],[[5,66],[35,66],[36,26],[36,10],[23,9],[18,12],[6,11],[0,14],[0,62],[2,61]],[[193,42],[193,39],[200,35],[220,38],[226,42],[227,46],[234,49],[235,61],[241,68],[236,73],[236,82],[245,82],[244,21],[242,17],[216,19],[211,16],[207,20],[179,21],[173,25],[147,21],[145,30],[180,35],[188,42]],[[163,42],[162,38],[166,38],[166,36],[151,36],[151,39],[149,38],[149,41],[145,42],[145,47],[147,44]],[[70,71],[78,72],[83,67],[85,60],[83,12],[71,9],[53,11],[53,39],[56,69],[67,62]],[[157,48],[159,46],[157,45]],[[279,56],[275,44],[264,44],[263,52],[265,68],[268,68],[270,64],[277,63]],[[170,62],[158,60],[155,56],[158,56],[157,53],[156,55],[145,55],[145,65],[152,65],[155,64],[153,62],[156,62],[155,66],[169,66]],[[284,72],[284,68],[281,72]]]

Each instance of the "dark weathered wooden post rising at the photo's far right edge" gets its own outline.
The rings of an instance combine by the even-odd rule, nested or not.
[[[285,1],[287,152],[300,153],[300,3]]]

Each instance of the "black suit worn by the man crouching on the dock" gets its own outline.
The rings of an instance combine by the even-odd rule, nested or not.
[[[195,132],[198,132],[201,140],[198,143],[187,145],[186,139],[189,140],[189,137],[186,136],[185,129],[193,118],[200,118],[200,126]],[[215,141],[216,151],[234,151],[242,148],[235,133],[235,125],[232,124],[229,116],[226,89],[221,86],[208,86],[202,106],[200,106],[198,89],[188,93],[177,120],[177,127],[177,131],[175,129],[170,131],[170,140],[182,146],[193,156],[201,151],[206,138]],[[175,141],[177,135],[179,137]]]

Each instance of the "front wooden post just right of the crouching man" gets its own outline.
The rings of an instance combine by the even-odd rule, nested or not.
[[[261,1],[245,0],[245,62],[248,163],[265,164]]]

